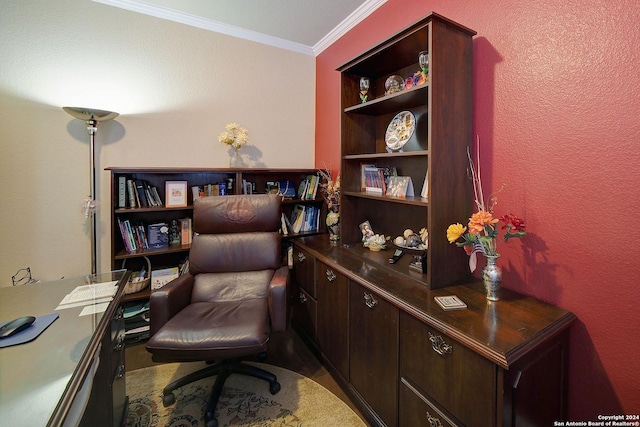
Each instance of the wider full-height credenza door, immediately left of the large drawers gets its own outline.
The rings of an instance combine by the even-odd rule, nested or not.
[[[349,288],[351,384],[386,425],[395,426],[398,309],[355,282]]]

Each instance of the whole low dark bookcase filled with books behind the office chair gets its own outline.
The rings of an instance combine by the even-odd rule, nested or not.
[[[322,220],[326,209],[315,169],[109,167],[106,170],[111,174],[112,269],[182,267],[191,247],[193,200],[197,197],[280,194],[283,249],[291,245],[291,239],[326,231]],[[172,192],[170,203],[167,189]],[[172,229],[172,223],[176,228]],[[166,227],[162,236],[166,241],[158,243],[157,229],[162,225]],[[126,295],[125,300],[144,299],[149,292],[147,287]]]

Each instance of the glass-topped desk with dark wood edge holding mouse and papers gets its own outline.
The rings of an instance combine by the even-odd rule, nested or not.
[[[63,425],[116,315],[127,270],[0,288],[0,321],[58,313],[35,340],[0,348],[0,420],[11,426]],[[106,310],[80,316],[84,306],[56,310],[77,286],[115,281]],[[98,300],[100,301],[100,300]],[[96,306],[95,302],[88,307]],[[87,396],[88,399],[88,396]],[[80,400],[80,397],[78,398]],[[71,417],[71,416],[70,416]]]

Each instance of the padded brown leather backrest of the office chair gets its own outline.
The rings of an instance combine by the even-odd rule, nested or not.
[[[280,197],[273,194],[195,200],[189,272],[246,272],[281,266]]]

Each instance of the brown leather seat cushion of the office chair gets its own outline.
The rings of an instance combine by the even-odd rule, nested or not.
[[[154,360],[216,361],[267,349],[269,311],[265,298],[197,302],[186,306],[149,339]]]

